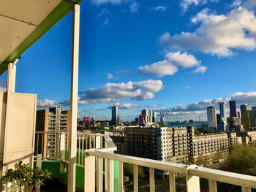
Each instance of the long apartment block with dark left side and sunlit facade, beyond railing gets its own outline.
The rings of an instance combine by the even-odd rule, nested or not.
[[[173,163],[196,163],[216,153],[225,158],[230,145],[241,143],[236,133],[195,135],[194,127],[127,127],[124,135],[127,155]]]

